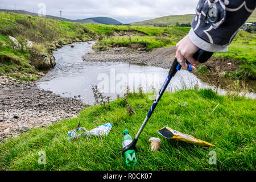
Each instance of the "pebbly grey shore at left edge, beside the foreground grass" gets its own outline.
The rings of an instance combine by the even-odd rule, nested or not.
[[[0,140],[76,117],[84,106],[74,98],[39,90],[36,82],[19,82],[9,76],[1,76]]]

